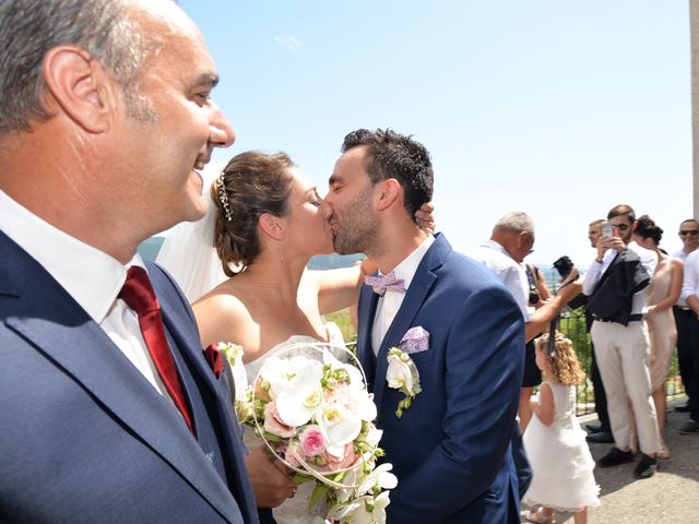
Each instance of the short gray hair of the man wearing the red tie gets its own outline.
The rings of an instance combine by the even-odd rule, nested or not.
[[[127,111],[151,119],[147,99],[138,90],[140,71],[151,50],[149,38],[123,0],[0,1],[0,134],[28,131],[32,117],[47,120],[42,103],[44,57],[51,48],[84,48],[111,71],[123,91]]]

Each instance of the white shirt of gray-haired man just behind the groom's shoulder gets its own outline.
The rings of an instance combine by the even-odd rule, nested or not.
[[[524,322],[530,322],[534,308],[529,305],[529,279],[524,267],[518,264],[502,245],[495,240],[486,241],[467,254],[497,275],[514,297]]]

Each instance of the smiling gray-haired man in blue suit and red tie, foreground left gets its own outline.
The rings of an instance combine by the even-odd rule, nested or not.
[[[167,0],[0,3],[0,521],[257,522],[223,380],[137,247],[234,141]]]

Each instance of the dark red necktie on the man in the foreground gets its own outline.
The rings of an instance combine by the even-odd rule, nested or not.
[[[143,340],[149,348],[153,364],[157,369],[167,392],[169,393],[175,406],[179,409],[193,433],[191,416],[187,407],[187,401],[182,393],[182,386],[175,368],[175,359],[170,353],[170,348],[165,337],[165,327],[163,318],[161,317],[161,305],[155,297],[155,291],[149,279],[149,275],[143,267],[133,265],[127,272],[127,282],[123,284],[119,293],[121,298],[129,308],[139,315],[139,325]]]

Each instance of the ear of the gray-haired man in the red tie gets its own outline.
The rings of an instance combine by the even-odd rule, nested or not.
[[[109,129],[116,82],[90,52],[74,46],[55,47],[46,53],[43,74],[48,90],[47,106],[52,111],[60,107],[91,133]],[[51,104],[58,107],[51,108]]]

